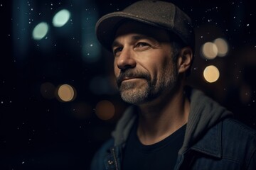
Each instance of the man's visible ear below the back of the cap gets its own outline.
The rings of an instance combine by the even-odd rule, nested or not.
[[[178,73],[186,72],[191,66],[193,52],[191,47],[183,47],[178,57]]]

